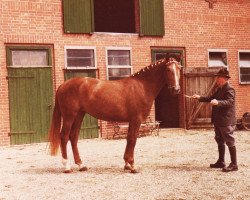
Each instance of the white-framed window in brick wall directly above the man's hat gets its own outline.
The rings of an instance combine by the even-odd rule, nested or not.
[[[208,67],[227,67],[227,50],[208,50]]]

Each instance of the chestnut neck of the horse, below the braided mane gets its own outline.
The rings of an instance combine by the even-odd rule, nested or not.
[[[155,99],[166,84],[165,65],[150,66],[149,69],[142,70],[140,73],[138,80],[143,82],[148,95]]]

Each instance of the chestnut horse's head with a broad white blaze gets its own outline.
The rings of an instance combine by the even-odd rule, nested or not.
[[[180,93],[181,65],[173,58],[166,63],[167,85],[173,95]]]

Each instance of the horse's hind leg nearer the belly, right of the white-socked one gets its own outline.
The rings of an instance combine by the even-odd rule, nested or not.
[[[74,155],[74,160],[75,160],[75,163],[79,166],[80,171],[87,171],[88,170],[87,167],[82,164],[82,160],[80,158],[78,147],[77,147],[79,132],[81,129],[84,115],[85,115],[84,112],[78,113],[78,115],[76,116],[75,121],[72,125],[71,132],[69,135],[69,139],[71,142],[72,151],[73,151],[73,155]]]

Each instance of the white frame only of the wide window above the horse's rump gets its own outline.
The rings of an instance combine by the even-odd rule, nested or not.
[[[68,66],[68,59],[67,59],[67,50],[68,49],[94,50],[94,65],[95,65],[95,67],[70,67],[70,66]],[[96,47],[95,46],[65,46],[64,47],[64,63],[65,63],[65,69],[97,69]]]

